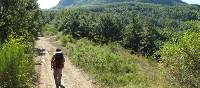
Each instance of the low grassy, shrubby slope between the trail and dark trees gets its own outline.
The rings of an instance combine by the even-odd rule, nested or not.
[[[157,64],[142,56],[131,55],[117,44],[97,45],[87,39],[80,39],[74,43],[68,42],[67,48],[71,62],[92,75],[102,87],[164,86]]]

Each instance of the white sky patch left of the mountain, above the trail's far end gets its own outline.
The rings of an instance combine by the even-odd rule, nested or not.
[[[49,9],[56,6],[60,0],[38,0],[41,9]]]

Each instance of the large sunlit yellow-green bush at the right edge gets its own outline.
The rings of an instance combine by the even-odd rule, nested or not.
[[[177,42],[165,44],[159,54],[170,84],[184,88],[200,86],[200,33],[186,32]]]

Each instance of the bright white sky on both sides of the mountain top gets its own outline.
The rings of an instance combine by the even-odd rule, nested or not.
[[[38,3],[40,5],[41,9],[49,9],[58,4],[60,0],[38,0]],[[200,5],[200,0],[182,0],[184,2],[187,2],[189,4],[199,4]]]

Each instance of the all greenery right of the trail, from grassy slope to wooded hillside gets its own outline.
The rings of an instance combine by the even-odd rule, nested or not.
[[[47,35],[58,33],[71,61],[103,87],[196,88],[200,75],[199,8],[108,3],[47,10],[43,15],[51,18],[45,19],[50,23],[44,31]],[[141,71],[140,67],[151,70]]]

